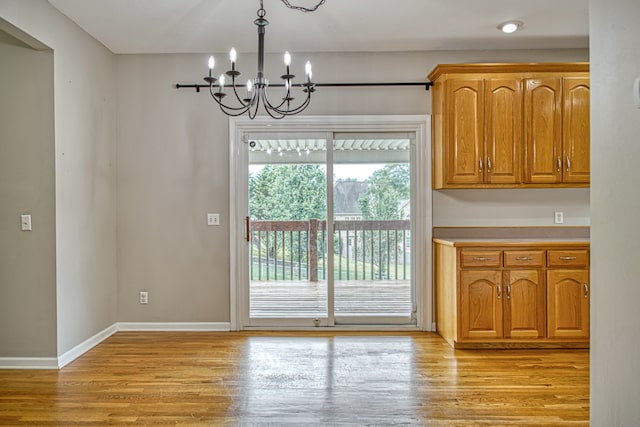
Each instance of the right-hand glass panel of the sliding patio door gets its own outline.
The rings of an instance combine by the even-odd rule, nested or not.
[[[412,322],[411,139],[334,136],[336,324]]]

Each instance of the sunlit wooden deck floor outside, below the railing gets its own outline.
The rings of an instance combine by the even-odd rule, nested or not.
[[[406,280],[336,281],[336,316],[409,316],[411,283]],[[252,281],[250,316],[326,317],[327,282]]]

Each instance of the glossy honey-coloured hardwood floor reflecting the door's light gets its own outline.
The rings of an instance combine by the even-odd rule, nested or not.
[[[0,425],[576,426],[588,350],[430,333],[120,332],[61,371],[0,371]]]

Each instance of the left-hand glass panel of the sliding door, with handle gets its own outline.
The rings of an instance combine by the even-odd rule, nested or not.
[[[321,135],[251,135],[251,325],[328,325],[326,152]]]

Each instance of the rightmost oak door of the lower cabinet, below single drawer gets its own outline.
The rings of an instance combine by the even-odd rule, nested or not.
[[[547,270],[549,338],[589,337],[589,270]]]

